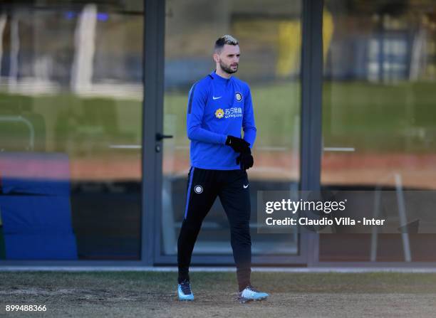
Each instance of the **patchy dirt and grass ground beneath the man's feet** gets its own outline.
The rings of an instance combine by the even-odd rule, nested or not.
[[[254,272],[268,300],[239,304],[234,272],[0,272],[0,317],[435,317],[436,274]],[[6,312],[42,304],[46,312]]]

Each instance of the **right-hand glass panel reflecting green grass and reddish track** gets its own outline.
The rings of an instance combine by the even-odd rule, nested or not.
[[[436,189],[435,9],[434,1],[326,1],[324,188]],[[335,236],[321,238],[321,260],[369,259],[368,235]],[[426,257],[417,241],[430,236],[409,235],[414,260]],[[400,235],[379,237],[377,260],[405,259]]]

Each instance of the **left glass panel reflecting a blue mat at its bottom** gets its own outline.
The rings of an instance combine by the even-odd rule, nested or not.
[[[2,3],[5,258],[140,259],[142,1]]]

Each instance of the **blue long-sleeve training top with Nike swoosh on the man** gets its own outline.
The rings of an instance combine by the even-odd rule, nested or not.
[[[256,139],[249,85],[233,76],[212,72],[192,85],[187,104],[187,136],[191,165],[200,169],[240,169],[239,156],[225,144],[227,135],[242,137],[253,147]]]

